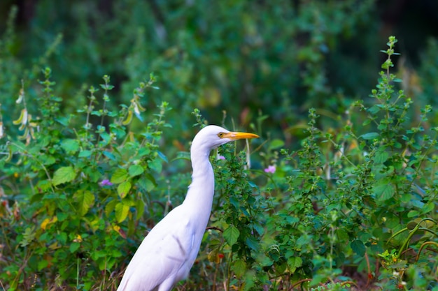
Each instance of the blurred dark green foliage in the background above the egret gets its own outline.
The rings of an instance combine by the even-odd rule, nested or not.
[[[182,114],[199,107],[211,120],[227,110],[241,124],[262,109],[274,124],[288,124],[305,115],[309,104],[339,112],[338,89],[363,94],[372,84],[367,72],[378,64],[369,50],[357,47],[353,55],[341,49],[343,41],[359,43],[358,33],[361,42],[378,42],[375,27],[369,27],[372,0],[108,3],[38,1],[29,30],[18,30],[10,45],[22,65],[11,77],[35,79],[35,71],[24,69],[50,63],[62,72],[55,80],[59,94],[74,96],[64,100],[68,112],[84,100],[78,84],[111,75],[115,100],[127,102],[132,87],[155,72],[163,92],[148,96],[151,103],[171,101]],[[48,47],[54,49],[48,53]],[[41,55],[46,57],[38,59]],[[351,79],[353,68],[360,70],[360,80]],[[15,91],[20,87],[17,80],[5,81]]]

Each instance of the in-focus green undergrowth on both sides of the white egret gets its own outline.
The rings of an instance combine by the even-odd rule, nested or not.
[[[431,106],[417,114],[397,90],[395,43],[382,51],[370,99],[352,102],[336,128],[319,128],[311,109],[297,150],[278,139],[218,149],[209,230],[176,289],[438,290],[437,128]],[[42,73],[38,86],[22,82],[20,116],[0,115],[1,286],[115,290],[136,246],[190,182],[174,175],[186,155],[169,161],[159,147],[171,104],[148,108],[143,121],[146,90],[156,88],[150,75],[129,105],[111,110],[105,75],[85,107],[62,114],[56,75]],[[16,130],[3,127],[5,116]],[[264,118],[250,126],[261,136]]]

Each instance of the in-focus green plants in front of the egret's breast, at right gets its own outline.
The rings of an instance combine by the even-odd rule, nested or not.
[[[396,89],[395,43],[371,100],[352,102],[339,128],[318,128],[309,110],[300,149],[267,140],[251,154],[264,171],[220,149],[205,249],[214,277],[197,289],[220,289],[221,275],[226,290],[438,290],[438,128],[430,105],[416,115]]]

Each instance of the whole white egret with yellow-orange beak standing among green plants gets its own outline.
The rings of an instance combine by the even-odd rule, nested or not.
[[[197,257],[214,195],[211,149],[253,133],[230,132],[206,126],[197,133],[190,149],[192,184],[183,204],[175,207],[143,239],[123,275],[118,291],[169,291],[187,278]]]

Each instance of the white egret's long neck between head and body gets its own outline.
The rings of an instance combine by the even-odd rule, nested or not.
[[[214,173],[209,161],[210,151],[192,153],[192,184],[188,188],[184,204],[190,204],[193,211],[199,212],[199,219],[209,221],[214,195]]]

